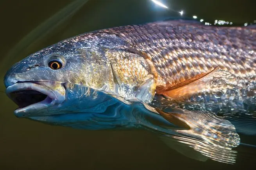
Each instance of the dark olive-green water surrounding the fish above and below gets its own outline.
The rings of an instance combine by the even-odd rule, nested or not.
[[[79,33],[179,17],[243,25],[256,19],[253,0],[23,0],[0,2],[0,75],[31,53]],[[69,5],[73,3],[72,5]],[[62,10],[63,9],[63,10]],[[56,15],[58,11],[59,14]],[[34,32],[32,32],[34,30]],[[28,35],[26,37],[26,35]],[[25,37],[25,38],[24,38]],[[20,42],[20,43],[19,43]],[[18,45],[17,45],[18,44]],[[4,91],[4,84],[0,84]],[[16,105],[0,93],[0,169],[254,169],[256,148],[241,145],[235,165],[195,161],[146,130],[88,131],[18,119]],[[255,136],[240,134],[256,144]]]

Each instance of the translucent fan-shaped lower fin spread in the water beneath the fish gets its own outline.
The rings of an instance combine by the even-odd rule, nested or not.
[[[182,128],[175,130],[179,135],[170,137],[187,144],[208,158],[224,163],[235,163],[236,151],[231,149],[240,144],[240,137],[235,126],[229,121],[214,114],[180,108],[175,108],[174,112],[157,111],[170,123]]]

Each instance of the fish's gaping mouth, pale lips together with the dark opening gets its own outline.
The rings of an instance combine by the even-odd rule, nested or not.
[[[39,110],[63,103],[65,95],[43,85],[41,82],[18,82],[6,89],[6,94],[18,108],[17,117],[27,117]]]

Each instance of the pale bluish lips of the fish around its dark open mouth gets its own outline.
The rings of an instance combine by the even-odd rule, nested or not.
[[[60,93],[53,91],[46,86],[40,85],[39,82],[36,81],[15,83],[7,87],[6,94],[9,98],[11,98],[11,93],[23,90],[38,91],[40,93],[43,93],[44,95],[47,95],[47,97],[41,102],[33,103],[26,107],[15,109],[14,115],[16,117],[30,117],[30,115],[34,112],[63,103],[66,98],[65,95],[61,95]]]

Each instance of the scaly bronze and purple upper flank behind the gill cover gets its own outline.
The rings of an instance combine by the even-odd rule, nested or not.
[[[243,79],[255,79],[256,29],[166,21],[101,30],[128,42],[149,58],[158,85],[176,84],[220,65]]]

